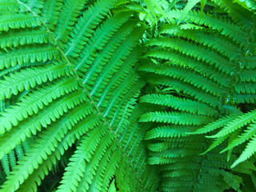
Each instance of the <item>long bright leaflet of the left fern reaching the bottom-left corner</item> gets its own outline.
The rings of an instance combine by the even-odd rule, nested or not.
[[[78,120],[85,117],[85,115],[90,112],[90,107],[89,110],[84,106],[81,108],[82,111],[75,111],[78,115],[72,115],[72,113],[70,113],[70,117],[63,118],[61,122],[56,122],[56,125],[52,125],[48,127],[46,131],[42,132],[35,146],[27,152],[26,157],[22,158],[18,166],[14,167],[14,171],[10,174],[5,184],[3,184],[2,190],[13,191],[18,189],[18,186],[24,182],[24,179],[26,179],[34,169],[38,168],[38,164],[42,163],[43,159],[47,158],[47,154],[52,153],[58,145],[59,140],[67,133],[67,130],[70,130]]]

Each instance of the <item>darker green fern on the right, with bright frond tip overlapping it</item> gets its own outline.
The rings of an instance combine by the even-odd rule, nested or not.
[[[161,191],[239,191],[242,175],[236,176],[234,167],[244,167],[238,163],[255,151],[254,111],[243,114],[239,108],[254,103],[255,66],[249,61],[255,57],[255,16],[246,6],[213,2],[225,17],[191,10],[190,4],[170,10],[176,22],[162,25],[158,37],[146,43],[149,51],[139,68],[153,93],[160,87],[158,94],[140,99],[155,107],[140,121],[152,127],[145,139],[149,163],[160,166]],[[209,132],[215,134],[206,138]]]

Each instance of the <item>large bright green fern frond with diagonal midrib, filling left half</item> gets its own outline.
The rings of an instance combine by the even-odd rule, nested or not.
[[[117,2],[1,4],[0,97],[17,101],[0,117],[7,174],[0,191],[38,190],[75,142],[56,191],[107,191],[114,177],[126,191],[158,187],[137,122],[142,112],[134,108],[144,85],[134,70],[144,26],[131,11],[115,14]]]

